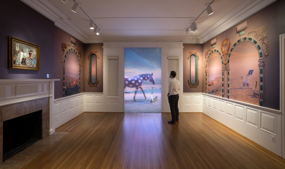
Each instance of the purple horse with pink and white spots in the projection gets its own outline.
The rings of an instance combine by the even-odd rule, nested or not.
[[[144,98],[146,99],[144,91],[143,91],[143,87],[142,87],[143,82],[145,82],[146,80],[149,80],[150,82],[152,82],[152,84],[155,84],[153,73],[152,74],[140,74],[140,75],[135,76],[133,78],[125,76],[124,79],[125,79],[125,88],[126,87],[132,87],[132,88],[135,87],[136,88],[135,89],[135,95],[134,95],[134,101],[136,101],[136,94],[137,94],[137,91],[139,88],[143,92]]]

